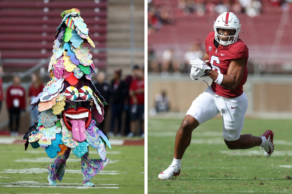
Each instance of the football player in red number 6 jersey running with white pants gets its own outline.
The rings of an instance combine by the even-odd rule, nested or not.
[[[248,149],[261,146],[265,156],[274,151],[273,132],[267,130],[261,136],[241,135],[247,96],[243,84],[247,80],[248,48],[238,34],[241,28],[234,13],[224,12],[214,22],[214,32],[205,40],[206,54],[203,61],[190,60],[190,76],[193,80],[209,76],[213,81],[190,106],[175,138],[173,162],[158,175],[169,180],[181,172],[181,159],[190,145],[192,131],[200,124],[215,117],[223,119],[223,138],[229,149]],[[211,66],[211,67],[210,67]]]

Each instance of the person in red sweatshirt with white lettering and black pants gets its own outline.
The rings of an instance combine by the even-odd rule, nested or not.
[[[21,110],[25,110],[25,90],[20,85],[20,77],[13,77],[13,85],[8,87],[6,105],[9,111],[9,127],[11,135],[18,135]]]

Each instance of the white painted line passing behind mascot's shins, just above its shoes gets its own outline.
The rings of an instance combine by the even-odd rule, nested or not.
[[[46,168],[28,168],[28,169],[6,169],[0,173],[24,173],[24,174],[32,174],[32,173],[47,173],[48,169]],[[70,170],[66,169],[66,173],[81,173],[80,170]],[[98,174],[119,174],[119,171],[116,170],[102,170]]]

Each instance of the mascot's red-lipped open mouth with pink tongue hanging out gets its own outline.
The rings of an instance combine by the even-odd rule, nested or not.
[[[83,142],[85,140],[85,129],[91,122],[90,110],[84,107],[79,107],[77,110],[70,108],[63,111],[63,118],[68,130],[72,131],[73,138],[76,141]]]

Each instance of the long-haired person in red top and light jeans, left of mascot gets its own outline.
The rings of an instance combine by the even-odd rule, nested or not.
[[[43,81],[41,79],[41,77],[36,74],[33,73],[31,74],[31,80],[32,83],[29,87],[29,98],[30,98],[30,102],[32,102],[39,93],[41,93],[43,91],[43,88],[45,87],[43,84]],[[30,125],[34,125],[34,120],[36,120],[38,118],[38,113],[39,111],[37,110],[37,108],[33,108],[34,105],[30,105],[30,108],[32,111],[30,111]]]

